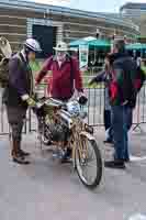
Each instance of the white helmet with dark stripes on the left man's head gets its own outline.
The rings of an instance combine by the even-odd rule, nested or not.
[[[35,52],[35,53],[42,52],[42,48],[41,48],[40,43],[38,43],[36,40],[34,40],[34,38],[27,38],[27,40],[24,42],[24,47],[25,47],[27,51],[32,51],[32,52]]]

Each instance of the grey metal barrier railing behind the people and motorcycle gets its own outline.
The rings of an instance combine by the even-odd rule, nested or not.
[[[42,87],[40,90],[46,94],[46,87]],[[98,88],[87,88],[85,92],[88,97],[87,105],[87,122],[92,127],[104,125],[103,111],[104,111],[104,86],[99,85]],[[146,85],[143,86],[141,92],[137,96],[136,107],[133,111],[133,124],[134,129],[139,128],[141,124],[146,123]],[[32,111],[27,112],[24,133],[35,131],[37,129],[37,119]],[[7,112],[4,106],[0,108],[0,135],[9,134],[10,128],[7,120]]]

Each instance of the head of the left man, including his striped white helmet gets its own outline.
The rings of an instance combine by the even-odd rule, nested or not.
[[[27,38],[23,47],[29,61],[34,61],[36,53],[42,52],[40,43],[34,38]]]

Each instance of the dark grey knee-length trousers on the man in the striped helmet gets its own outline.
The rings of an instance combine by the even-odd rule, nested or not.
[[[26,109],[22,107],[7,106],[8,121],[12,130],[12,139],[21,141]]]

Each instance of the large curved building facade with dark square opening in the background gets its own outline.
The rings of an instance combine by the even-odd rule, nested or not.
[[[18,51],[26,37],[35,36],[49,50],[58,41],[113,34],[130,40],[139,34],[138,25],[121,15],[86,12],[34,2],[0,0],[0,35],[5,36],[12,50]],[[50,50],[52,51],[52,50]]]

